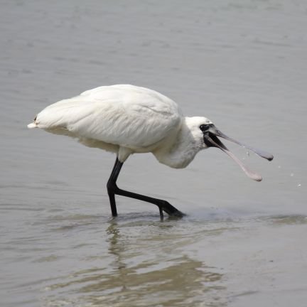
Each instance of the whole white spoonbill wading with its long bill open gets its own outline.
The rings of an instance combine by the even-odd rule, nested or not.
[[[60,100],[38,113],[28,128],[41,128],[53,134],[76,138],[81,144],[117,154],[107,191],[112,215],[117,216],[115,195],[144,200],[157,205],[161,219],[168,215],[182,216],[166,200],[131,193],[117,187],[117,178],[124,161],[135,153],[151,152],[160,163],[172,168],[185,168],[202,149],[217,147],[232,157],[249,178],[262,177],[250,171],[227,147],[220,136],[254,151],[271,161],[264,151],[230,139],[206,117],[183,117],[176,102],[168,97],[134,85],[97,87],[79,96]]]

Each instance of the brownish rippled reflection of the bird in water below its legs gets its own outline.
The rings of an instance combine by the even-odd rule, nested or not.
[[[129,223],[128,228],[137,228]],[[138,223],[136,223],[138,224]],[[167,223],[159,223],[141,238],[129,237],[126,225],[112,220],[107,229],[112,271],[98,274],[80,289],[94,306],[221,306],[221,274],[179,252],[176,235],[163,237]],[[157,226],[157,225],[155,225]],[[139,225],[139,227],[143,227]],[[106,304],[106,305],[105,305]]]

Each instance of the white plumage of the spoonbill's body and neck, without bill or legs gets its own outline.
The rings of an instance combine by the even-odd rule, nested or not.
[[[210,124],[208,119],[195,119],[197,125]],[[185,139],[176,135],[180,129],[185,130],[185,124],[193,124],[190,122],[191,119],[185,120],[176,102],[154,90],[112,85],[51,104],[28,127],[72,136],[86,146],[113,151],[122,162],[129,154],[151,151],[161,163],[182,168],[197,151],[193,155],[186,147],[175,154],[173,146],[176,142],[177,145],[183,141],[193,143],[193,138],[186,138],[188,135]],[[199,135],[201,139],[202,134]]]

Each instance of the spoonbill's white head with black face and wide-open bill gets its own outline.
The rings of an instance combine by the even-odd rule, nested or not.
[[[202,147],[203,149],[209,147],[216,147],[218,149],[221,149],[239,164],[239,166],[249,178],[252,178],[254,181],[262,181],[262,176],[257,173],[254,173],[254,171],[251,171],[249,168],[247,168],[247,166],[245,166],[239,160],[239,158],[232,154],[232,152],[227,149],[224,144],[222,144],[222,141],[220,141],[219,137],[226,139],[227,141],[232,141],[239,146],[243,146],[245,149],[254,151],[255,154],[261,156],[262,158],[266,158],[266,160],[273,160],[273,155],[265,151],[255,149],[254,147],[248,146],[239,141],[236,141],[235,139],[230,138],[229,136],[226,136],[219,129],[216,128],[216,126],[210,121],[210,119],[207,119],[205,117],[190,117],[189,119],[190,120],[188,126],[190,126],[190,131],[192,132],[194,139],[198,140],[200,147]]]

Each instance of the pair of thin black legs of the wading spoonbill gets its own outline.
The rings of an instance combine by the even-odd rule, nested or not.
[[[117,178],[119,176],[119,172],[122,169],[123,163],[118,160],[118,158],[115,161],[114,168],[112,170],[111,176],[109,177],[109,181],[107,182],[107,190],[109,194],[109,200],[112,210],[112,215],[115,217],[117,216],[117,208],[116,208],[116,202],[115,202],[115,195],[122,195],[129,198],[135,198],[137,200],[143,200],[147,203],[153,203],[154,205],[157,205],[160,211],[160,217],[161,220],[163,220],[163,211],[168,213],[168,215],[176,216],[176,217],[183,217],[183,212],[177,210],[175,207],[173,207],[170,203],[168,203],[166,200],[161,200],[158,198],[151,198],[149,196],[141,195],[132,193],[126,190],[122,190],[117,187]]]

